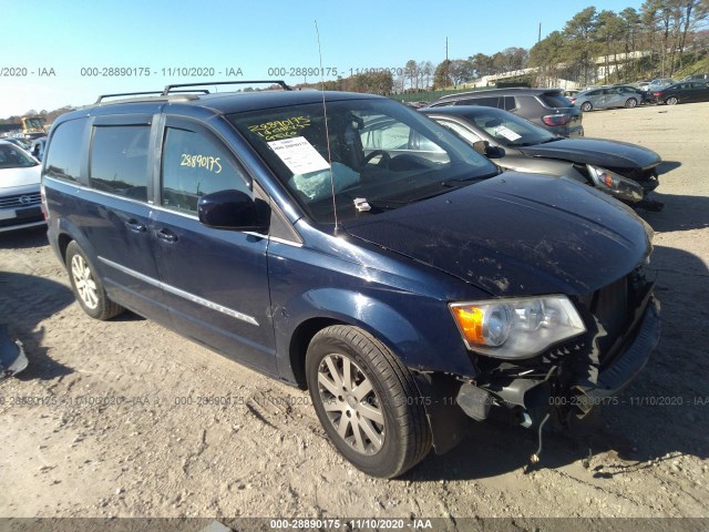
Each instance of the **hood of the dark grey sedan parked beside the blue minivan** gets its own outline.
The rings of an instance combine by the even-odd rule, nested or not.
[[[575,163],[596,164],[606,168],[647,170],[662,162],[657,153],[647,147],[627,142],[604,141],[603,139],[562,139],[520,150],[531,156],[563,158]]]

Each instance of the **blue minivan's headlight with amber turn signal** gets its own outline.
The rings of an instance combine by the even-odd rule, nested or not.
[[[586,331],[566,296],[449,305],[469,349],[495,358],[531,358]]]

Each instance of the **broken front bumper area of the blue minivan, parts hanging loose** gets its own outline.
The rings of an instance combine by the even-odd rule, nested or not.
[[[582,378],[563,364],[552,365],[545,375],[497,379],[486,383],[462,382],[453,376],[419,374],[419,388],[427,397],[427,413],[436,453],[462,439],[471,418],[503,419],[541,430],[551,418],[554,424],[571,427],[597,407],[612,402],[647,364],[660,336],[660,305],[651,293],[628,327],[613,360],[603,365],[594,379]],[[451,408],[453,407],[453,408]],[[574,418],[574,419],[572,419]]]

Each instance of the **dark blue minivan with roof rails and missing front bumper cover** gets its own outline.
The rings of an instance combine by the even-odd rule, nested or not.
[[[307,388],[369,474],[471,420],[568,427],[657,344],[651,229],[600,192],[369,94],[113,96],[59,117],[43,162],[79,304]]]

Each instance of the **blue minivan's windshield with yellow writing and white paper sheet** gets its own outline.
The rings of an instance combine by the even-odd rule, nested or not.
[[[497,174],[454,134],[389,100],[329,102],[327,133],[321,103],[229,120],[319,223],[335,221],[332,191],[345,221]]]

